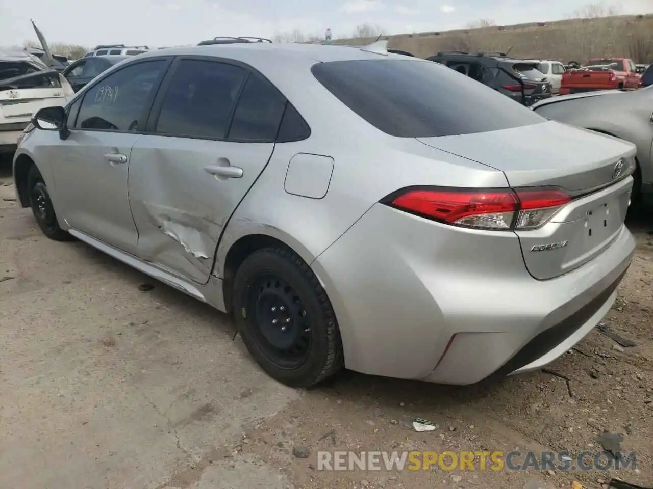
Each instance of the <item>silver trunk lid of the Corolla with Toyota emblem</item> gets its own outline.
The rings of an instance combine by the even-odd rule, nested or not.
[[[517,231],[534,278],[546,280],[580,267],[622,231],[632,188],[627,175],[636,151],[631,143],[554,121],[419,140],[503,171],[511,187],[557,186],[575,196],[545,226]]]

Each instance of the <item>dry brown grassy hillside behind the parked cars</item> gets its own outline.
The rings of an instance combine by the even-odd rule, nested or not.
[[[334,44],[363,45],[375,38],[338,39]],[[419,57],[441,50],[502,51],[513,57],[579,61],[590,57],[630,57],[653,62],[653,14],[460,29],[390,36],[388,47]]]

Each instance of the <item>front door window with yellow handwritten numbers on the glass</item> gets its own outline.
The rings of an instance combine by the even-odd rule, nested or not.
[[[137,63],[112,73],[84,95],[76,127],[116,131],[137,130],[144,123],[152,90],[167,61]]]

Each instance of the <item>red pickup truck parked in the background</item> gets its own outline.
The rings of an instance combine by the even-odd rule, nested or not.
[[[560,95],[595,90],[636,89],[642,84],[635,63],[628,58],[589,59],[578,70],[562,74]]]

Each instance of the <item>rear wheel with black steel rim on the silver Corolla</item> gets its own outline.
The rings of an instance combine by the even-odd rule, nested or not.
[[[243,342],[270,377],[289,387],[313,387],[343,368],[327,293],[291,250],[264,248],[248,256],[232,297]]]

